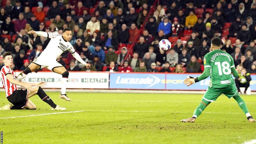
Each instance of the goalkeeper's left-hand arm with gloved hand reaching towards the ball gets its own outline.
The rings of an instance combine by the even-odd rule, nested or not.
[[[184,84],[187,86],[190,86],[192,84],[197,83],[200,80],[208,78],[210,76],[210,70],[211,70],[210,67],[205,67],[204,72],[199,77],[196,77],[196,78],[188,77],[184,80]]]

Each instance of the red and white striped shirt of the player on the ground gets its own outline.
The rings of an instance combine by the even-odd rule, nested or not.
[[[10,96],[13,93],[13,91],[18,89],[17,85],[10,83],[10,81],[6,78],[6,75],[8,74],[12,74],[13,79],[17,78],[16,73],[11,68],[9,68],[8,66],[3,66],[1,69],[1,78],[6,93],[6,97]]]

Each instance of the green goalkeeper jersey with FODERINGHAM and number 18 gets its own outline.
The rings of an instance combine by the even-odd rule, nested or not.
[[[223,88],[234,85],[231,76],[231,68],[234,67],[234,60],[230,54],[220,49],[213,50],[204,57],[204,67],[210,67],[209,87]]]

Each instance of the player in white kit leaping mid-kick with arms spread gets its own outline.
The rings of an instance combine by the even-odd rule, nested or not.
[[[74,50],[73,46],[69,43],[72,37],[72,31],[70,28],[63,29],[63,35],[58,33],[46,33],[42,31],[34,31],[31,30],[28,32],[29,34],[37,34],[38,36],[44,36],[50,38],[50,42],[45,48],[45,50],[37,57],[25,70],[23,70],[18,76],[17,79],[21,80],[27,76],[27,74],[31,73],[31,71],[35,71],[41,69],[43,67],[53,71],[54,73],[58,73],[62,75],[61,78],[61,91],[59,98],[65,99],[67,101],[71,101],[71,99],[66,94],[66,85],[68,81],[68,71],[65,67],[63,67],[60,63],[57,62],[57,58],[66,50],[68,50],[74,58],[76,58],[80,63],[82,63],[86,68],[90,68],[84,60],[80,57],[80,55]]]

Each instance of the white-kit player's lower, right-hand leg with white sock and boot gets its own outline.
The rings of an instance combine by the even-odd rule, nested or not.
[[[48,68],[50,68],[50,67],[48,67]],[[69,72],[63,66],[56,66],[56,67],[53,67],[51,70],[54,73],[62,75],[62,78],[61,78],[61,91],[60,91],[59,98],[65,99],[67,101],[71,101],[71,99],[66,94],[66,87],[67,87],[67,83],[68,83]]]

